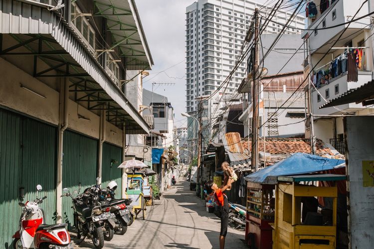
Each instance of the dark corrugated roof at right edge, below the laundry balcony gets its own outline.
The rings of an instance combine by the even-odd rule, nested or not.
[[[319,107],[319,109],[361,102],[365,105],[365,101],[371,99],[374,99],[374,80],[369,81],[361,87],[348,90],[337,98],[332,99],[325,105]],[[374,103],[370,103],[369,105],[371,104]]]

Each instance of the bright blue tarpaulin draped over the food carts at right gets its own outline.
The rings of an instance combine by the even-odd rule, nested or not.
[[[330,159],[306,153],[296,153],[272,166],[247,175],[244,179],[249,182],[260,184],[276,184],[277,176],[300,175],[325,171],[337,168],[337,166],[344,166],[344,163],[344,160]]]

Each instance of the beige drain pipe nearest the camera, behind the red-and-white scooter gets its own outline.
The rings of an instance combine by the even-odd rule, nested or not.
[[[62,96],[62,92],[64,93]],[[57,184],[56,184],[56,218],[57,223],[62,223],[62,161],[63,161],[63,142],[64,131],[68,126],[68,101],[69,84],[67,79],[60,81],[60,103],[59,103],[59,132],[58,132],[58,154],[57,154]],[[63,125],[61,126],[61,115],[63,113]]]

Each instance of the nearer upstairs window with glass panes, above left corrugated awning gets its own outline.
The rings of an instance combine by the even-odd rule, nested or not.
[[[71,23],[75,31],[81,34],[83,42],[89,47],[91,52],[94,53],[95,31],[75,3],[71,3]]]

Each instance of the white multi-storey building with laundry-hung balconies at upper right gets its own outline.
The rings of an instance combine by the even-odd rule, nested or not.
[[[316,5],[319,3],[317,0],[314,2]],[[373,78],[373,44],[370,18],[351,22],[349,26],[348,23],[339,25],[351,21],[361,4],[354,0],[330,1],[330,6],[322,13],[318,11],[315,18],[308,18],[309,31],[304,33],[304,38],[308,39],[309,45],[309,57],[304,62],[304,75],[311,80],[310,112],[315,115],[313,118],[314,132],[312,133],[314,137],[331,143],[343,154],[345,152],[343,118],[322,116],[368,115],[372,114],[374,109],[371,106],[365,107],[362,104],[355,103],[323,109],[320,109],[320,107],[343,93],[368,83]],[[365,3],[355,19],[368,14],[369,8],[370,4]],[[336,27],[328,28],[331,26]],[[325,27],[327,29],[324,29]],[[335,43],[336,40],[338,41]],[[347,70],[347,66],[347,68],[339,71],[335,77],[333,76],[328,84],[319,83],[315,84],[315,87],[313,86],[312,75],[318,74],[321,70],[329,72],[330,75],[331,63],[336,59],[340,60],[342,54],[349,54],[351,51],[354,53],[356,49],[362,51],[360,65],[357,65],[357,79],[353,81],[350,79],[350,71]],[[324,56],[327,52],[328,54]],[[354,54],[354,56],[356,55]],[[310,137],[310,134],[311,127],[307,123],[305,135]]]

